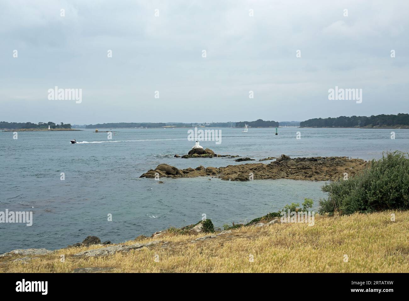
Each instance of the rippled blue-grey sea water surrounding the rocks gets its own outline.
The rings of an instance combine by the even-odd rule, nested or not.
[[[113,129],[114,130],[114,129]],[[249,156],[350,156],[372,159],[382,151],[409,152],[404,129],[219,129],[216,154]],[[57,249],[88,235],[123,242],[169,226],[198,222],[205,213],[215,226],[243,222],[305,197],[326,194],[324,182],[294,180],[221,181],[139,179],[159,163],[178,168],[240,164],[229,158],[174,158],[194,145],[188,129],[116,129],[117,136],[93,130],[0,132],[0,211],[33,211],[33,225],[0,223],[0,253],[18,248]],[[297,140],[297,131],[301,139]],[[391,131],[396,133],[392,140]],[[70,144],[76,139],[78,144]],[[265,161],[268,163],[269,161]],[[60,180],[61,172],[65,180]],[[211,181],[209,181],[211,179]],[[108,214],[112,222],[108,222]]]

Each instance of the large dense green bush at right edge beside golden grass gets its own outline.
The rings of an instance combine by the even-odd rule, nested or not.
[[[409,209],[409,158],[395,151],[382,154],[367,168],[346,181],[326,184],[321,190],[328,199],[320,199],[319,213],[352,214],[381,210]]]

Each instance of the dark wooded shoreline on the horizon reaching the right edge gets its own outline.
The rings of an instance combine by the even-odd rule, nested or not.
[[[340,116],[336,118],[313,118],[300,122],[300,127],[407,127],[409,114]]]

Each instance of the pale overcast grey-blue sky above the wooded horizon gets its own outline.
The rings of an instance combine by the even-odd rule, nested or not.
[[[409,113],[408,29],[407,0],[1,0],[0,121]]]

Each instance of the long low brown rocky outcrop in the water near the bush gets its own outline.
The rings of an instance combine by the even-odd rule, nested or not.
[[[189,167],[180,170],[168,164],[160,164],[155,170],[151,169],[142,174],[140,178],[154,178],[155,172],[159,177],[191,178],[201,176],[214,176],[222,180],[249,181],[249,174],[253,179],[293,179],[310,181],[337,181],[344,177],[344,172],[351,177],[369,166],[369,162],[362,159],[348,157],[311,157],[290,158],[281,155],[276,161],[269,164],[247,163],[229,165],[226,167],[203,167],[195,169]]]

